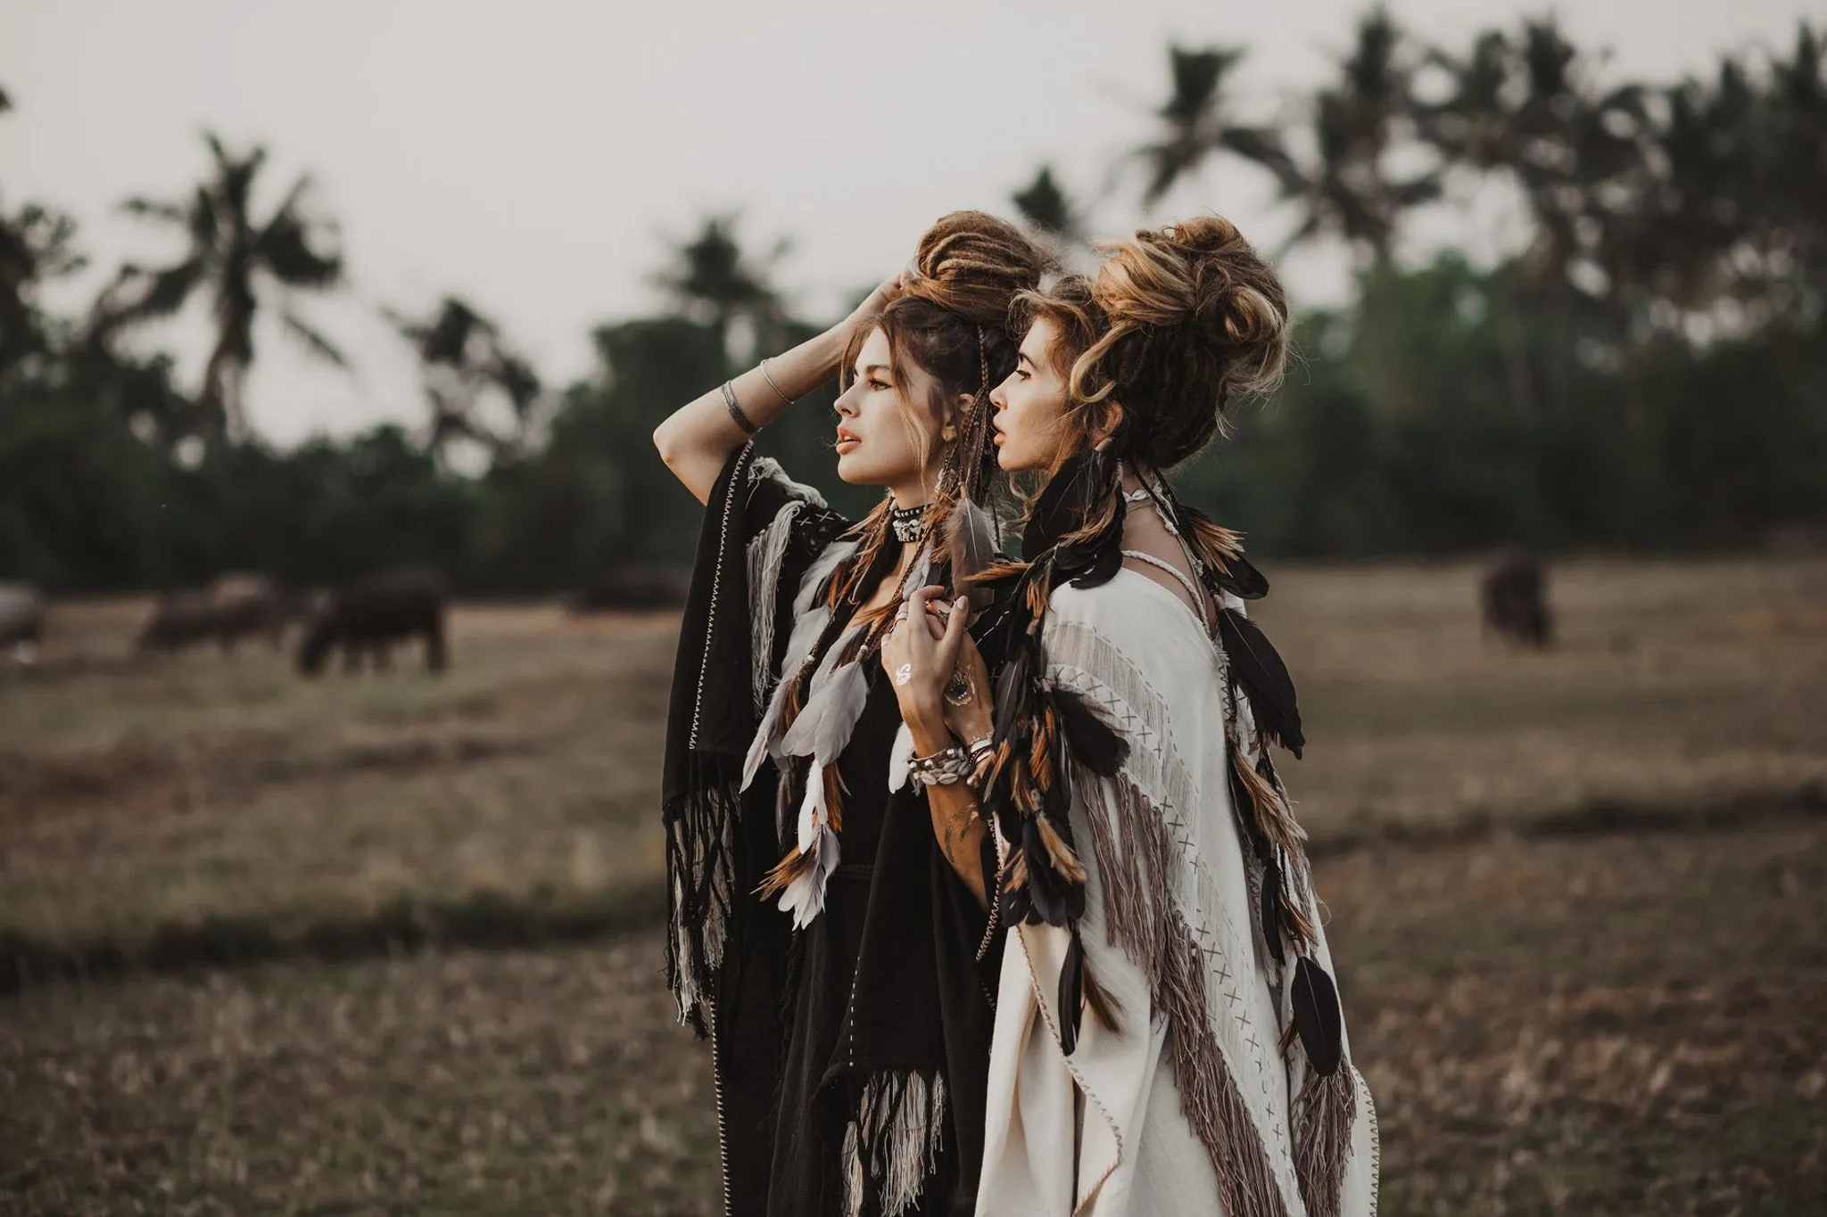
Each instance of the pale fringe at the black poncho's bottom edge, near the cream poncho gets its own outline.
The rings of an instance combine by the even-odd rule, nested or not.
[[[844,1217],[861,1217],[871,1186],[882,1217],[919,1204],[939,1164],[946,1102],[939,1073],[879,1073],[864,1082],[844,1129]]]

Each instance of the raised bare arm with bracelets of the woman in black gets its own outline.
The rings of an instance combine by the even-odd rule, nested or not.
[[[766,369],[753,367],[731,380],[729,390],[749,425],[766,427],[791,401],[831,380],[855,328],[868,325],[868,319],[899,294],[901,276],[895,276],[824,334],[766,359]],[[723,462],[747,440],[749,431],[736,421],[722,385],[672,411],[654,429],[654,447],[660,449],[660,460],[700,504],[709,502],[711,487],[716,485],[716,474],[722,473]]]

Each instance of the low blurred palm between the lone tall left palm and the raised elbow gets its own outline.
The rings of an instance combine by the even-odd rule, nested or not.
[[[451,452],[475,445],[490,460],[526,451],[541,401],[532,363],[515,354],[501,327],[460,296],[446,296],[428,317],[387,310],[387,319],[418,356],[431,407],[426,449],[449,463]]]

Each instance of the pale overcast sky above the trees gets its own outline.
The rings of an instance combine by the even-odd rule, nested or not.
[[[1445,46],[1544,4],[1394,0]],[[1610,73],[1666,80],[1723,49],[1789,44],[1820,0],[1584,0],[1557,5]],[[115,210],[177,197],[205,170],[199,131],[272,151],[267,204],[301,173],[336,217],[351,283],[309,314],[354,359],[312,365],[261,334],[256,427],[283,443],[380,418],[422,418],[411,359],[380,305],[462,292],[554,383],[590,367],[586,334],[656,299],[663,241],[740,212],[753,248],[789,237],[780,281],[824,316],[899,266],[939,213],[1010,213],[1009,192],[1052,161],[1082,195],[1149,130],[1169,40],[1250,47],[1272,115],[1345,51],[1361,0],[1021,0],[886,4],[603,4],[517,0],[4,0],[0,206],[62,206],[97,266],[170,239]],[[1096,213],[1140,219],[1135,182]],[[1272,244],[1277,217],[1248,172],[1209,172],[1160,213],[1217,208]],[[1491,217],[1454,217],[1502,230]],[[1493,234],[1485,234],[1487,237]],[[1500,234],[1498,234],[1500,235]],[[1297,297],[1334,297],[1339,255],[1286,268]],[[203,317],[143,341],[201,367]]]

